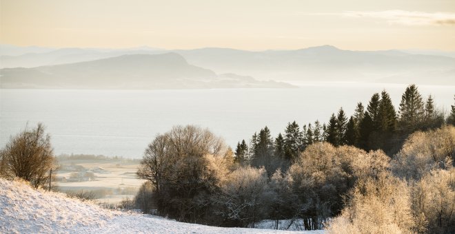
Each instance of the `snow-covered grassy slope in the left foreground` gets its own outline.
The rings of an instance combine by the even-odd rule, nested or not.
[[[63,193],[35,190],[0,179],[0,233],[296,233],[220,228],[101,209]],[[323,231],[307,231],[323,233]]]

